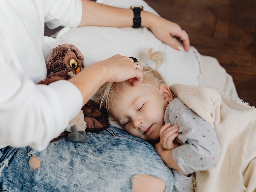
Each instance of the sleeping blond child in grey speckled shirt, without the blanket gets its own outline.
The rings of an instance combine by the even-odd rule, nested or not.
[[[156,70],[147,67],[143,73],[141,86],[105,84],[99,90],[101,105],[126,132],[148,141],[160,139],[156,151],[175,171],[187,175],[212,168],[220,145],[211,124],[175,98]],[[178,135],[179,147],[173,143]]]

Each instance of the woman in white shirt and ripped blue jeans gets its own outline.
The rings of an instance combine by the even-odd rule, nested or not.
[[[147,162],[140,162],[145,155],[160,158],[156,153],[152,154],[151,146],[133,137],[130,142],[127,141],[129,138],[112,137],[123,135],[121,131],[109,128],[103,136],[91,134],[89,144],[61,139],[48,145],[50,140],[64,131],[68,122],[103,83],[130,79],[136,86],[142,80],[142,66],[138,62],[137,67],[131,58],[115,55],[90,65],[69,81],[58,81],[48,86],[36,85],[46,76],[42,54],[44,22],[49,28],[60,25],[132,27],[132,10],[86,0],[65,3],[4,0],[0,7],[0,188],[6,191],[172,189],[172,173],[160,160],[157,164],[155,160],[152,162],[162,166],[164,176],[160,176],[160,172],[154,173],[150,158]],[[177,24],[141,11],[141,26],[150,28],[159,39],[177,50],[181,46],[171,36],[180,37],[184,49],[188,51],[188,34]],[[12,120],[13,117],[15,120]],[[138,151],[124,149],[129,143]],[[101,145],[105,151],[100,149]],[[141,156],[143,150],[146,154]],[[96,154],[98,161],[94,161]],[[103,154],[109,154],[109,158]],[[117,154],[127,157],[124,159],[128,159],[129,163],[124,162],[119,166],[124,159]],[[113,159],[116,159],[115,163]],[[131,161],[135,162],[134,169],[132,165],[126,166]],[[103,165],[107,167],[105,174],[101,174]],[[115,171],[110,174],[110,170]],[[116,180],[113,179],[114,175]],[[139,177],[135,177],[137,175]],[[92,176],[97,178],[91,179]],[[95,184],[103,180],[106,182],[102,186]]]

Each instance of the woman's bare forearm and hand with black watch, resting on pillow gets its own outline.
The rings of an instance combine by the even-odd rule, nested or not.
[[[83,12],[79,26],[107,26],[107,27],[132,27],[133,11],[105,4],[82,0]],[[186,31],[180,26],[153,13],[141,11],[141,27],[149,28],[153,34],[176,50],[181,46],[172,36],[179,37],[185,51],[189,50],[190,42]]]

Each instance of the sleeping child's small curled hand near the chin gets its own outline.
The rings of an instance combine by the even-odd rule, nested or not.
[[[171,150],[175,147],[178,147],[177,144],[173,143],[173,140],[179,135],[178,125],[170,127],[170,123],[165,124],[160,129],[160,144],[165,150]]]

